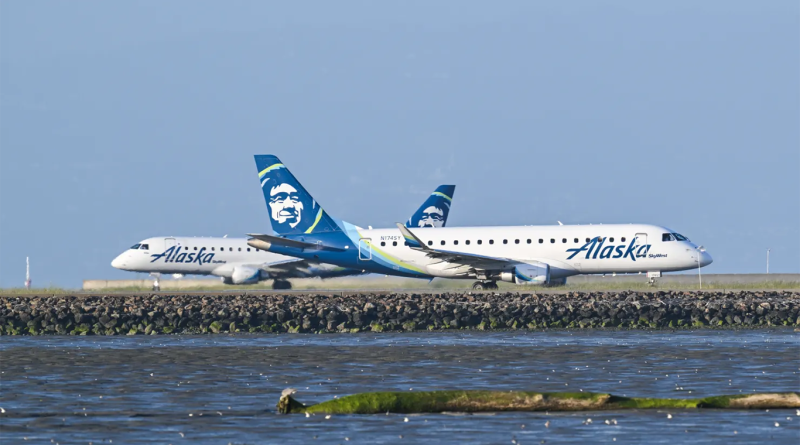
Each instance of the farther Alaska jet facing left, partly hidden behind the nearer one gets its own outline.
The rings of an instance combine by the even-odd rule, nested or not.
[[[408,219],[409,227],[444,227],[455,192],[454,185],[442,185]],[[284,226],[306,224],[305,202],[286,187],[276,189],[270,204],[270,218]],[[134,244],[111,262],[111,266],[132,272],[160,274],[215,275],[225,284],[254,284],[272,279],[273,289],[291,289],[289,278],[333,278],[366,273],[365,269],[340,267],[312,259],[298,259],[249,246],[246,238],[155,237]],[[156,279],[154,287],[158,287]]]

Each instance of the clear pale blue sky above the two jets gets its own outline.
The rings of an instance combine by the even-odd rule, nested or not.
[[[800,272],[800,2],[0,2],[0,286],[133,278],[150,236],[269,231],[252,155],[329,213],[666,225]]]

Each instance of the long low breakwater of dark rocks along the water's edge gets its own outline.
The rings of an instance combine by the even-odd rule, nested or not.
[[[2,335],[800,326],[796,292],[0,297]]]

